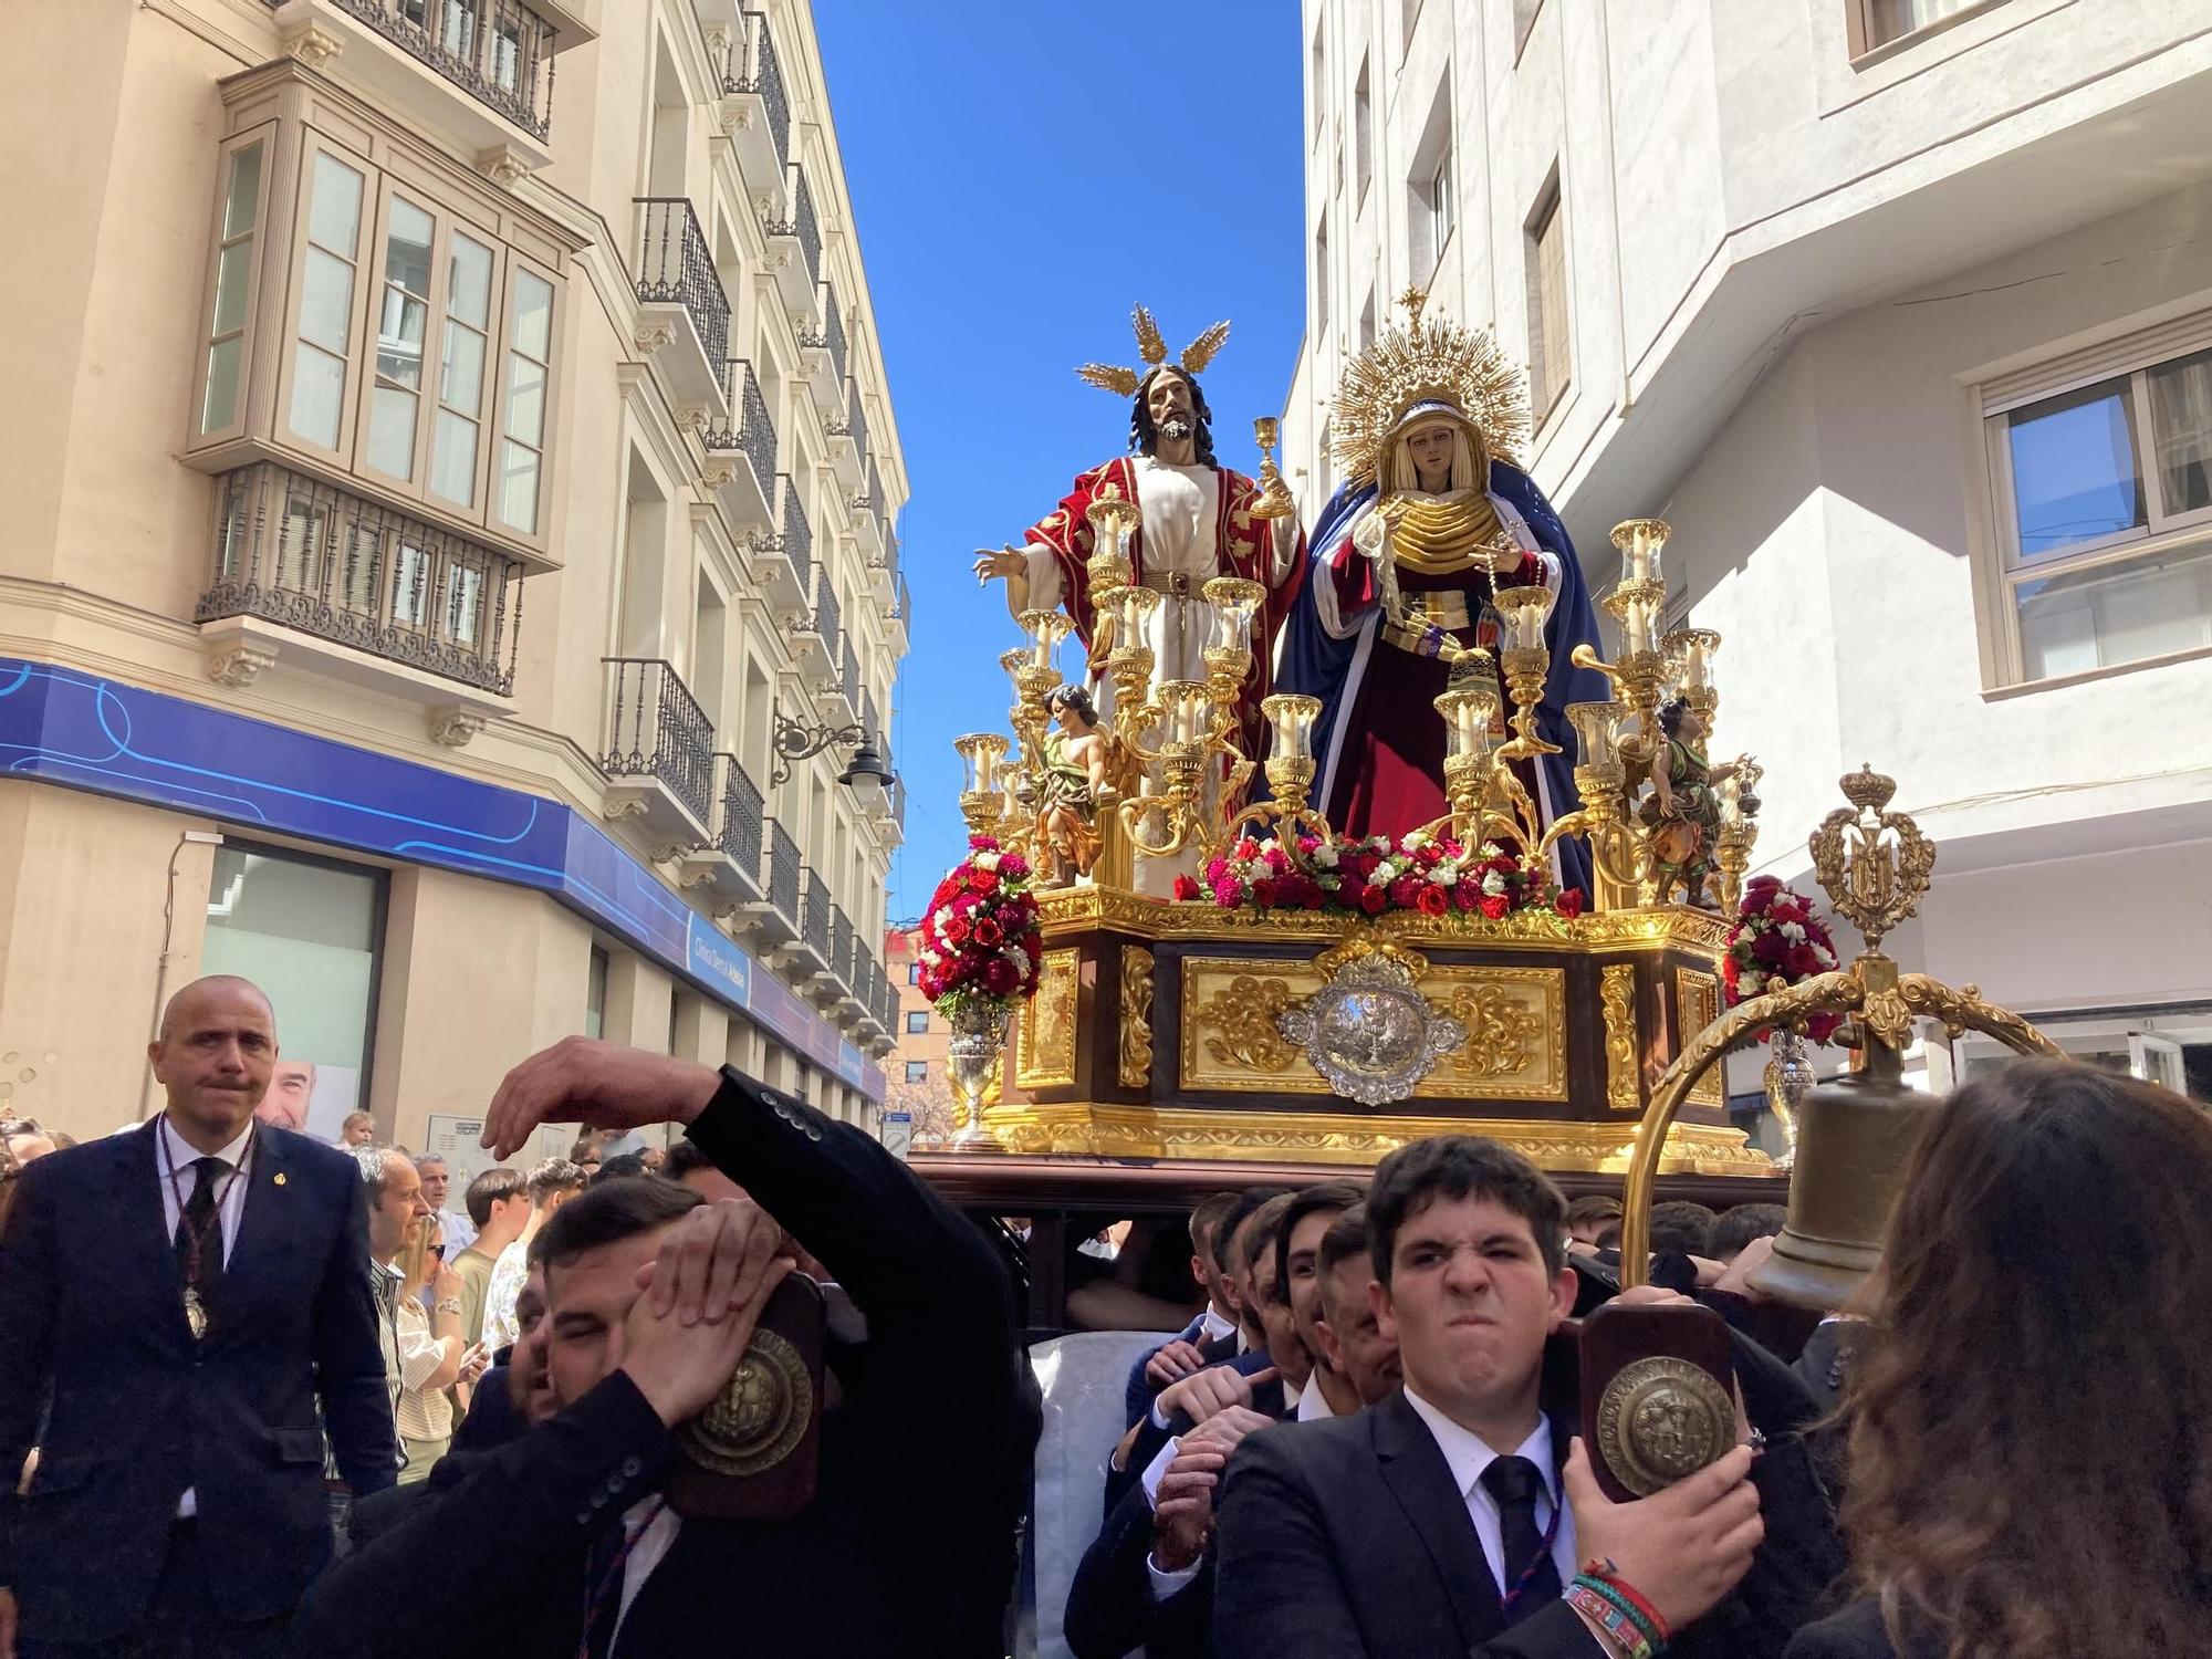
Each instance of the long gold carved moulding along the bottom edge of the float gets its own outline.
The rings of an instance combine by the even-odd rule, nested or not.
[[[1075,1157],[1177,1157],[1371,1166],[1431,1135],[1482,1135],[1520,1150],[1546,1170],[1619,1172],[1635,1148],[1635,1124],[1575,1124],[1498,1117],[1413,1117],[1385,1113],[1197,1110],[1102,1104],[1009,1106],[991,1115],[1009,1152]],[[1776,1175],[1743,1130],[1679,1124],[1659,1155],[1661,1175]]]

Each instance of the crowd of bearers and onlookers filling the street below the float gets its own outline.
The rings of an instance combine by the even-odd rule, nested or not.
[[[1011,1650],[1020,1225],[734,1071],[580,1037],[484,1130],[511,1159],[582,1121],[568,1157],[460,1194],[374,1124],[257,1117],[243,980],[179,991],[150,1060],[142,1128],[0,1124],[0,1659]],[[1825,1314],[1754,1287],[1776,1206],[1655,1206],[1621,1290],[1617,1201],[1458,1135],[1115,1228],[1068,1307],[1159,1340],[1110,1378],[1066,1648],[2205,1652],[2203,1214],[2212,1117],[2020,1062],[1931,1108],[1882,1270]],[[825,1310],[814,1486],[741,1517],[686,1425],[792,1276]],[[1635,1500],[1579,1416],[1608,1303],[1712,1310],[1736,1387],[1736,1444]]]

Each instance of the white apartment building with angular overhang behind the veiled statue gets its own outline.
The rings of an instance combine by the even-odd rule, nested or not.
[[[1871,761],[1887,947],[2212,1097],[2212,31],[2128,0],[1305,0],[1285,471],[1420,285],[1531,367],[1593,584],[1672,522],[1761,867]],[[1942,1086],[1984,1064],[1922,1055]],[[1736,1075],[1736,1086],[1745,1077]]]

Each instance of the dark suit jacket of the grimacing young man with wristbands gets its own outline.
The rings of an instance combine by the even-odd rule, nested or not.
[[[1763,1358],[1772,1380],[1781,1367]],[[1759,1391],[1745,1385],[1745,1407],[1765,1429]],[[1573,1409],[1555,1402],[1548,1416],[1564,1460]],[[1736,1593],[1677,1632],[1679,1659],[1774,1659],[1840,1566],[1794,1436],[1770,1442],[1752,1480],[1767,1540]],[[1248,1436],[1217,1513],[1219,1659],[1590,1659],[1590,1632],[1564,1601],[1504,1626],[1467,1500],[1402,1389],[1352,1418]]]

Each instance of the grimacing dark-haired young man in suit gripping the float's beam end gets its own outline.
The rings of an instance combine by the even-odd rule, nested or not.
[[[1801,1444],[1754,1475],[1739,1447],[1632,1504],[1597,1491],[1544,1347],[1575,1305],[1566,1206],[1524,1157],[1449,1135],[1383,1159],[1367,1199],[1374,1301],[1405,1387],[1356,1418],[1250,1436],[1228,1467],[1214,1566],[1221,1659],[1604,1659],[1562,1599],[1610,1571],[1674,1630],[1674,1655],[1772,1652],[1818,1584],[1778,1564],[1732,1597],[1765,1522],[1814,1531]],[[1814,1551],[1805,1546],[1805,1555]],[[1825,1582],[1825,1579],[1823,1579]]]

